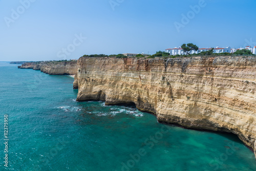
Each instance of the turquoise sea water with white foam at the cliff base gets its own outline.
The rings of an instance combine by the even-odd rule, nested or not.
[[[235,135],[163,125],[133,106],[76,102],[73,78],[17,66],[0,63],[9,170],[256,170]],[[1,134],[0,170],[8,170]]]

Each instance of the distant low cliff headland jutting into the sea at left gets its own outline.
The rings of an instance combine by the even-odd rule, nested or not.
[[[76,61],[63,62],[41,62],[41,63],[24,63],[20,69],[40,70],[50,75],[75,75],[77,73]]]

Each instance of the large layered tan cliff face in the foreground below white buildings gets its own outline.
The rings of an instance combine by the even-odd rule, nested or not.
[[[237,134],[256,150],[255,58],[81,57],[77,64],[77,101],[133,102],[159,122]]]

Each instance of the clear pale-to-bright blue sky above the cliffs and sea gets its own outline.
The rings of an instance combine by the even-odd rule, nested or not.
[[[255,0],[0,0],[0,61],[256,45]]]

